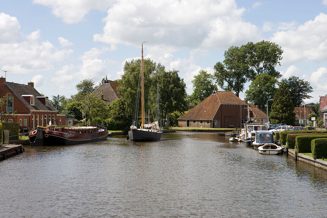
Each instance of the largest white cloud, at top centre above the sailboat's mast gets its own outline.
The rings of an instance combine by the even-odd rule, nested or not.
[[[227,49],[260,38],[258,28],[243,21],[244,11],[232,0],[121,0],[108,9],[94,41]]]

